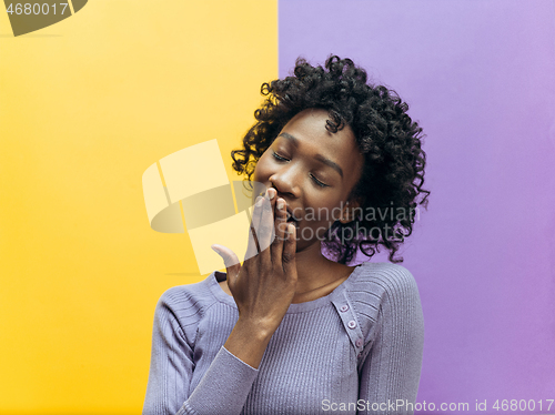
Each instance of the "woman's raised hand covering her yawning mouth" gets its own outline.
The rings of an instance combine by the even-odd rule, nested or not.
[[[287,224],[286,203],[276,200],[274,189],[258,199],[251,234],[243,266],[231,250],[212,247],[224,260],[228,285],[239,308],[239,321],[224,346],[258,367],[296,290],[295,226]]]

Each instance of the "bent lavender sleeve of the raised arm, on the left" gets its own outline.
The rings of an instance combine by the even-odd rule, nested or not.
[[[190,391],[195,367],[194,338],[190,337],[196,333],[202,313],[193,303],[183,321],[178,317],[183,308],[173,304],[170,290],[154,312],[143,415],[240,414],[259,371],[221,346],[199,385]]]

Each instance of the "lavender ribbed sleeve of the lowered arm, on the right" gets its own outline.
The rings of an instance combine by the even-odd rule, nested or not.
[[[374,281],[382,291],[360,371],[359,414],[413,414],[424,345],[424,320],[412,274],[394,266]]]

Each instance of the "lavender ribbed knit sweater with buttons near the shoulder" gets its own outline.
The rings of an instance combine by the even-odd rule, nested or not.
[[[424,323],[406,269],[367,262],[291,304],[258,370],[223,347],[239,317],[224,279],[160,297],[143,415],[413,413]]]

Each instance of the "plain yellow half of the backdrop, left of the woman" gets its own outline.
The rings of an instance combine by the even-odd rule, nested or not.
[[[203,279],[142,173],[216,138],[236,179],[278,2],[89,1],[19,38],[1,11],[0,414],[138,414],[155,303]]]

